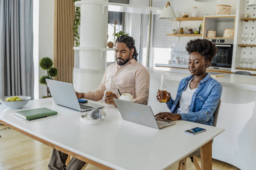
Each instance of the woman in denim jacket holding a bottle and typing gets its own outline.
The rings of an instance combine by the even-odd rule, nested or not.
[[[212,58],[217,54],[214,43],[205,39],[190,40],[186,50],[189,53],[188,69],[191,75],[181,80],[175,100],[167,93],[170,112],[155,115],[157,120],[187,120],[212,125],[213,113],[220,101],[222,85],[206,72]],[[156,99],[160,100],[157,92]]]

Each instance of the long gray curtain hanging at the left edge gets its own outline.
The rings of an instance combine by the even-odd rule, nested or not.
[[[33,99],[33,0],[0,0],[0,97]]]

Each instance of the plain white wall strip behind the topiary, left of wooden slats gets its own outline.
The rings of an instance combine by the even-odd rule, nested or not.
[[[38,63],[41,58],[54,55],[54,0],[39,0],[39,29],[38,29]],[[35,70],[36,71],[36,70]],[[47,75],[46,70],[38,69],[38,80]],[[35,77],[36,78],[36,77]],[[47,95],[46,85],[39,84],[38,96]]]

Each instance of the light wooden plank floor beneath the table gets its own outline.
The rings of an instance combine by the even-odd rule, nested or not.
[[[0,125],[0,130],[8,128]],[[47,170],[51,156],[51,148],[13,129],[0,131],[0,170]],[[200,158],[197,157],[200,163]],[[167,170],[177,170],[175,163]],[[85,170],[100,170],[88,165]],[[187,158],[187,170],[195,170],[195,166]],[[238,168],[219,160],[213,160],[212,170],[239,170]]]

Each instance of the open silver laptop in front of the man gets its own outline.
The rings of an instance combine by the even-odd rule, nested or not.
[[[79,103],[74,86],[71,83],[46,79],[54,102],[58,105],[72,108],[81,112],[90,111],[93,108],[99,109],[104,106],[91,102]]]

